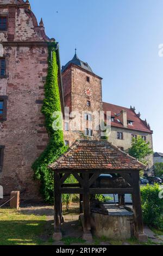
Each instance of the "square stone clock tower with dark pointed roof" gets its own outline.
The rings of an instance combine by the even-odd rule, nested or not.
[[[90,66],[78,58],[77,53],[70,62],[62,66],[61,71],[65,107],[70,108],[70,113],[80,113],[78,120],[81,124],[73,130],[72,123],[79,124],[79,121],[74,120],[79,114],[72,114],[69,125],[65,115],[65,143],[72,145],[76,139],[85,136],[90,139],[99,138],[100,133],[95,129],[92,112],[102,111],[102,78],[94,74]]]

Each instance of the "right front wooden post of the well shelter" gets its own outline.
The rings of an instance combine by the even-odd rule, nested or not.
[[[143,231],[143,221],[142,221],[142,208],[141,208],[141,195],[140,195],[140,175],[139,171],[133,170],[133,210],[134,210],[134,222],[135,222],[135,236],[140,241],[148,240],[148,237]]]

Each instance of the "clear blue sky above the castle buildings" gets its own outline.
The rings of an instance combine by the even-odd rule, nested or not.
[[[30,0],[46,34],[60,43],[61,65],[77,53],[103,77],[103,101],[135,106],[163,152],[162,0]],[[58,13],[57,13],[58,11]]]

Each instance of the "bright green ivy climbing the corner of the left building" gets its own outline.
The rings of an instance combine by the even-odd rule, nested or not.
[[[57,160],[67,150],[63,131],[54,131],[52,127],[55,120],[53,117],[54,111],[61,111],[55,46],[55,42],[50,43],[48,46],[48,74],[45,83],[45,100],[43,100],[41,110],[45,115],[45,126],[49,135],[49,143],[32,166],[34,178],[41,181],[41,193],[48,203],[53,203],[54,180],[53,172],[47,166]]]

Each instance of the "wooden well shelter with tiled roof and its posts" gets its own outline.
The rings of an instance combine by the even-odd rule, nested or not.
[[[90,199],[95,194],[118,194],[124,205],[124,194],[131,194],[134,212],[134,235],[147,239],[143,231],[139,172],[146,166],[108,141],[76,141],[57,161],[49,165],[54,171],[54,239],[62,239],[61,194],[80,194],[80,213],[84,216],[84,238],[91,236]],[[78,183],[65,184],[73,175]],[[111,174],[112,181],[97,182],[101,174]],[[120,182],[121,181],[121,182]]]

